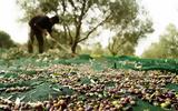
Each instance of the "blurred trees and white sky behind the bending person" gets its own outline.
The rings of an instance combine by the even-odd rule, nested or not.
[[[177,58],[177,0],[0,0],[0,48],[26,52],[30,18],[58,13],[57,42],[48,37],[46,52]]]

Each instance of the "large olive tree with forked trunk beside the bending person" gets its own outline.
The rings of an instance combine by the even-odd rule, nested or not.
[[[18,4],[24,11],[24,21],[36,14],[58,13],[59,30],[73,53],[79,43],[100,33],[98,28],[120,33],[137,23],[139,12],[136,0],[18,0]]]

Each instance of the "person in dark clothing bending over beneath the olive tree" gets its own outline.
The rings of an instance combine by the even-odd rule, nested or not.
[[[28,41],[28,51],[29,53],[33,52],[33,41],[34,37],[38,41],[39,53],[43,52],[43,36],[47,36],[47,32],[52,37],[52,27],[59,23],[59,17],[53,16],[51,18],[47,16],[36,16],[29,21],[30,33],[29,33],[29,41]],[[53,37],[52,37],[53,38]]]

